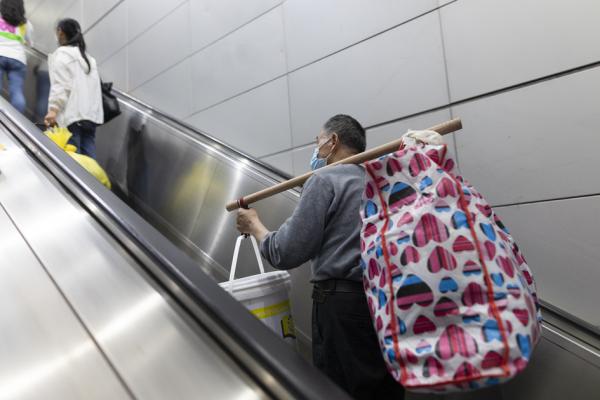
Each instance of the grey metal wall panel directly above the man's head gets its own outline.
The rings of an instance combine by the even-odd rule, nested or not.
[[[447,101],[435,12],[292,73],[293,144],[312,143],[337,113],[368,126]]]

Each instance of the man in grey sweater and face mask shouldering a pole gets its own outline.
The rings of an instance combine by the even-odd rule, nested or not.
[[[363,291],[359,214],[365,172],[358,165],[328,164],[365,150],[366,135],[348,115],[330,118],[316,139],[315,174],[298,207],[270,232],[255,210],[240,210],[240,232],[253,235],[278,269],[312,260],[314,365],[357,399],[395,399],[404,389],[388,373]]]

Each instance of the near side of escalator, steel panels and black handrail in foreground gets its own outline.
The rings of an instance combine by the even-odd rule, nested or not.
[[[1,398],[345,398],[4,99],[0,145]]]

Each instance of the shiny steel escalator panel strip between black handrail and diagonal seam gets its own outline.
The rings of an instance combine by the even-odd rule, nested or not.
[[[135,398],[265,397],[22,149],[0,168],[3,207]]]

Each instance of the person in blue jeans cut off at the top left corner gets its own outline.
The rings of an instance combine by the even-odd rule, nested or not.
[[[10,103],[25,113],[23,94],[27,57],[25,45],[31,46],[33,27],[25,17],[23,0],[0,2],[0,79],[6,76]]]

